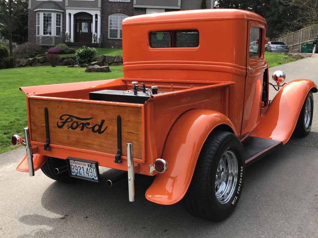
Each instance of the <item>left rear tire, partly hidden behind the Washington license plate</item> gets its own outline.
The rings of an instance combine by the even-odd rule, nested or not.
[[[54,173],[55,168],[60,168],[65,165],[66,165],[66,160],[58,159],[54,157],[48,157],[45,164],[41,167],[41,170],[46,176],[56,181],[66,182],[66,183],[76,182],[77,179],[70,177],[68,171],[60,173],[60,174]]]

